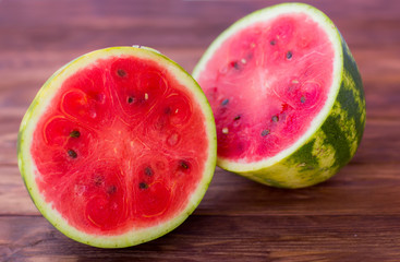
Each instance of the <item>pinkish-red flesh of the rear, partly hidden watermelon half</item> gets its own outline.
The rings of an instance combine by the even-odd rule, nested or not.
[[[306,14],[281,14],[228,37],[198,83],[217,123],[218,157],[275,156],[311,127],[332,84],[334,47]]]

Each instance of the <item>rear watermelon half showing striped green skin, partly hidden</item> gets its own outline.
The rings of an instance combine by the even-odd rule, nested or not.
[[[354,155],[365,126],[356,64],[317,9],[283,3],[231,25],[193,71],[217,124],[218,165],[282,188],[322,182]]]

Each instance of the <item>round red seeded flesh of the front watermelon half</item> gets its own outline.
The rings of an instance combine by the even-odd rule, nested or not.
[[[38,189],[88,234],[166,222],[183,211],[203,176],[204,121],[193,94],[156,62],[98,60],[62,84],[37,124]]]

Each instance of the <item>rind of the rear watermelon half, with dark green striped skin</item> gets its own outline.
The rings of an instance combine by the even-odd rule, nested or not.
[[[350,162],[365,127],[365,97],[355,61],[332,21],[305,3],[282,3],[265,8],[239,20],[208,47],[192,75],[198,79],[219,46],[240,29],[259,21],[291,12],[311,15],[334,45],[334,83],[326,105],[307,132],[292,146],[259,162],[232,162],[218,157],[217,165],[252,180],[279,188],[304,188],[327,180]]]

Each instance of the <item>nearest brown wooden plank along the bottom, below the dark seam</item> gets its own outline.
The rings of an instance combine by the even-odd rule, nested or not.
[[[190,217],[155,241],[107,250],[77,243],[40,217],[0,217],[5,261],[395,261],[400,250],[397,216]],[[378,234],[377,234],[378,233]],[[390,236],[390,237],[388,237]],[[46,260],[46,261],[47,261]]]

